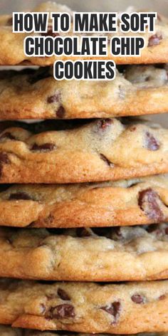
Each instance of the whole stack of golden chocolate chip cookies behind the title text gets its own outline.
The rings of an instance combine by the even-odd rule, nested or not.
[[[11,23],[0,63],[24,68],[0,73],[0,334],[167,332],[168,130],[140,117],[168,111],[167,20],[96,82],[57,82]]]

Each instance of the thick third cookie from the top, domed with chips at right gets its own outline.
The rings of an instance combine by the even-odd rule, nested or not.
[[[0,133],[1,183],[77,183],[168,172],[168,130],[95,120],[73,130]]]

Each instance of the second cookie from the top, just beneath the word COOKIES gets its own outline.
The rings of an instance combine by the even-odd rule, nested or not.
[[[1,70],[0,78],[0,119],[4,120],[116,117],[168,110],[167,65],[130,65],[124,72],[119,70],[115,80],[103,82],[56,81],[52,68]]]

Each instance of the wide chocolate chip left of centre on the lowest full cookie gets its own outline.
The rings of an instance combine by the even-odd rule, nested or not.
[[[67,303],[64,303],[63,305],[56,305],[56,307],[51,307],[46,317],[51,319],[75,317],[75,310],[73,305],[68,305]]]

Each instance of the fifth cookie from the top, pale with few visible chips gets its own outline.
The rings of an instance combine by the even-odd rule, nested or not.
[[[130,281],[168,277],[168,224],[0,229],[0,277]]]

